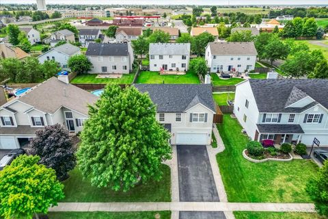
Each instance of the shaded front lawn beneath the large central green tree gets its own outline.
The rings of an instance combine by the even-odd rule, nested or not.
[[[81,172],[75,168],[70,178],[64,181],[65,198],[61,202],[106,203],[106,202],[169,202],[171,201],[171,170],[162,165],[161,181],[148,181],[136,185],[128,192],[114,192],[111,188],[97,188],[90,181],[83,180]]]

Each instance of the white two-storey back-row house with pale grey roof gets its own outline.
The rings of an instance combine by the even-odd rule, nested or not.
[[[150,43],[151,71],[189,69],[190,43]]]

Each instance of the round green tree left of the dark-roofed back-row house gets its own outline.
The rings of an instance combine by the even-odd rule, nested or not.
[[[74,73],[83,74],[91,70],[92,63],[87,59],[85,55],[72,55],[68,59],[68,68]]]

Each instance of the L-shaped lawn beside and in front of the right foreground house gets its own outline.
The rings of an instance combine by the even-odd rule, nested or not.
[[[230,114],[217,125],[226,150],[217,155],[217,162],[229,202],[249,203],[311,203],[305,192],[310,177],[318,166],[310,160],[292,162],[249,162],[242,155],[248,136]]]

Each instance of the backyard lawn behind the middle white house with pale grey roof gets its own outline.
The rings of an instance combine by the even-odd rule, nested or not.
[[[198,76],[192,70],[186,75],[159,75],[158,71],[141,71],[137,83],[200,83]]]

